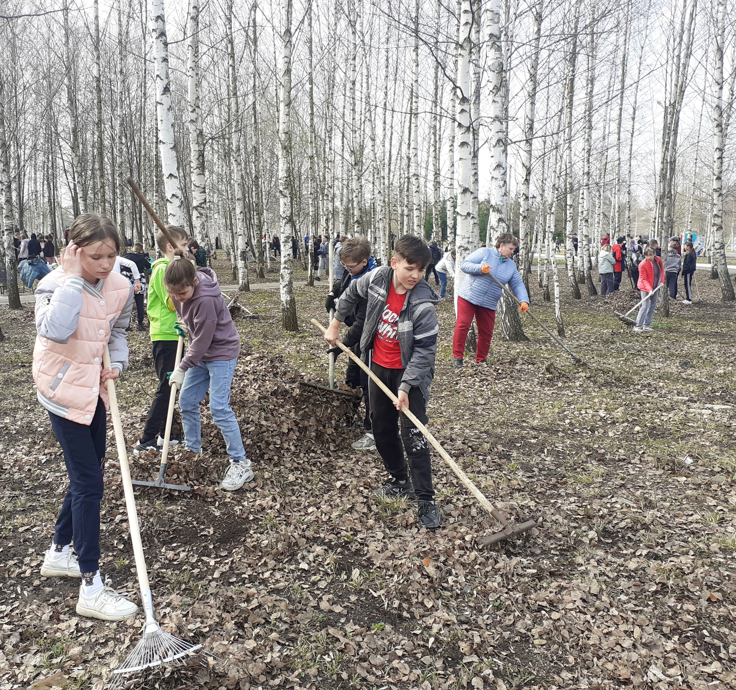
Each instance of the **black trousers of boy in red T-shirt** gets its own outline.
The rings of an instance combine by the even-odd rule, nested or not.
[[[399,392],[399,384],[404,374],[403,369],[386,369],[371,363],[371,371],[395,395]],[[428,422],[426,401],[422,391],[416,386],[409,391],[409,410],[422,424]],[[383,458],[386,472],[397,480],[405,480],[411,473],[411,483],[417,498],[422,501],[434,499],[432,488],[432,463],[429,455],[429,444],[422,432],[412,424],[408,417],[400,414],[381,388],[373,380],[369,383],[370,414],[375,438],[375,447]],[[398,422],[398,424],[397,424]],[[399,427],[401,438],[399,438]],[[408,458],[408,466],[404,459],[404,450]]]

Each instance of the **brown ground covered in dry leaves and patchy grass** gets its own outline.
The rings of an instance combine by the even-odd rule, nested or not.
[[[278,291],[241,296],[259,318],[238,321],[233,405],[256,481],[216,488],[224,448],[209,421],[205,460],[172,459],[169,481],[194,491],[136,490],[162,624],[222,661],[132,686],[736,687],[735,315],[715,282],[700,288],[700,302],[657,316],[648,339],[612,314],[634,304],[629,291],[565,298],[566,343],[584,368],[525,319],[531,342],[495,340],[490,366],[458,373],[442,302],[431,429],[513,519],[541,520],[495,549],[474,538],[498,524],[439,458],[436,533],[411,505],[372,497],[381,464],[350,449],[360,434],[350,400],[299,384],[326,379],[309,324],[325,319],[324,284],[297,290],[297,334],[281,330]],[[59,670],[69,687],[102,688],[142,616],[79,618],[78,583],[38,575],[66,473],[32,388],[32,311],[5,309],[0,327],[0,690]],[[130,334],[118,388],[129,446],[154,382],[144,335]],[[559,376],[544,373],[548,362]],[[109,443],[102,568],[137,597],[111,429]],[[137,478],[155,475],[155,459],[132,465]]]

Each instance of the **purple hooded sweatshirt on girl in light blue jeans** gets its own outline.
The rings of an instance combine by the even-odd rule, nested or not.
[[[189,330],[189,349],[179,365],[183,371],[197,362],[232,360],[240,354],[240,335],[211,268],[197,268],[191,299],[171,301]]]

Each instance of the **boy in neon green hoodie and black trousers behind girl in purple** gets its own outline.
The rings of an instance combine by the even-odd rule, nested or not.
[[[135,455],[148,451],[158,452],[163,446],[163,434],[166,427],[166,413],[169,410],[169,381],[166,379],[169,371],[174,371],[177,357],[177,341],[179,334],[175,328],[177,313],[174,305],[169,299],[166,285],[163,283],[163,274],[169,261],[174,258],[174,252],[181,249],[184,256],[188,253],[188,235],[180,227],[169,226],[169,235],[176,241],[173,247],[164,237],[163,232],[156,235],[156,244],[161,250],[163,257],[156,260],[151,267],[151,280],[148,287],[148,320],[151,324],[151,341],[153,350],[153,363],[158,376],[158,388],[153,396],[151,408],[146,419],[141,440],[135,444],[133,452]],[[171,445],[179,443],[172,438]]]

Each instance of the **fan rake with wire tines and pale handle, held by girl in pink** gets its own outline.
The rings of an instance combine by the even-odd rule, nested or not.
[[[105,346],[102,355],[105,369],[110,369],[110,352]],[[125,494],[125,508],[128,513],[128,524],[130,526],[130,542],[135,556],[135,571],[138,573],[138,586],[141,588],[141,602],[146,613],[146,625],[143,637],[135,645],[123,664],[113,671],[115,678],[110,688],[114,689],[118,683],[123,682],[124,676],[129,673],[143,671],[152,666],[160,664],[171,664],[185,656],[190,655],[202,648],[201,644],[188,642],[169,633],[163,632],[156,622],[153,614],[153,599],[151,587],[148,582],[146,561],[141,543],[141,530],[138,527],[138,513],[135,511],[135,497],[133,495],[132,481],[130,480],[130,466],[128,464],[128,453],[125,447],[123,425],[120,421],[120,410],[118,398],[115,392],[115,383],[112,379],[107,380],[107,395],[110,397],[110,416],[113,418],[113,429],[115,430],[115,442],[118,447],[118,460],[120,461],[120,474],[123,479],[123,492]]]

